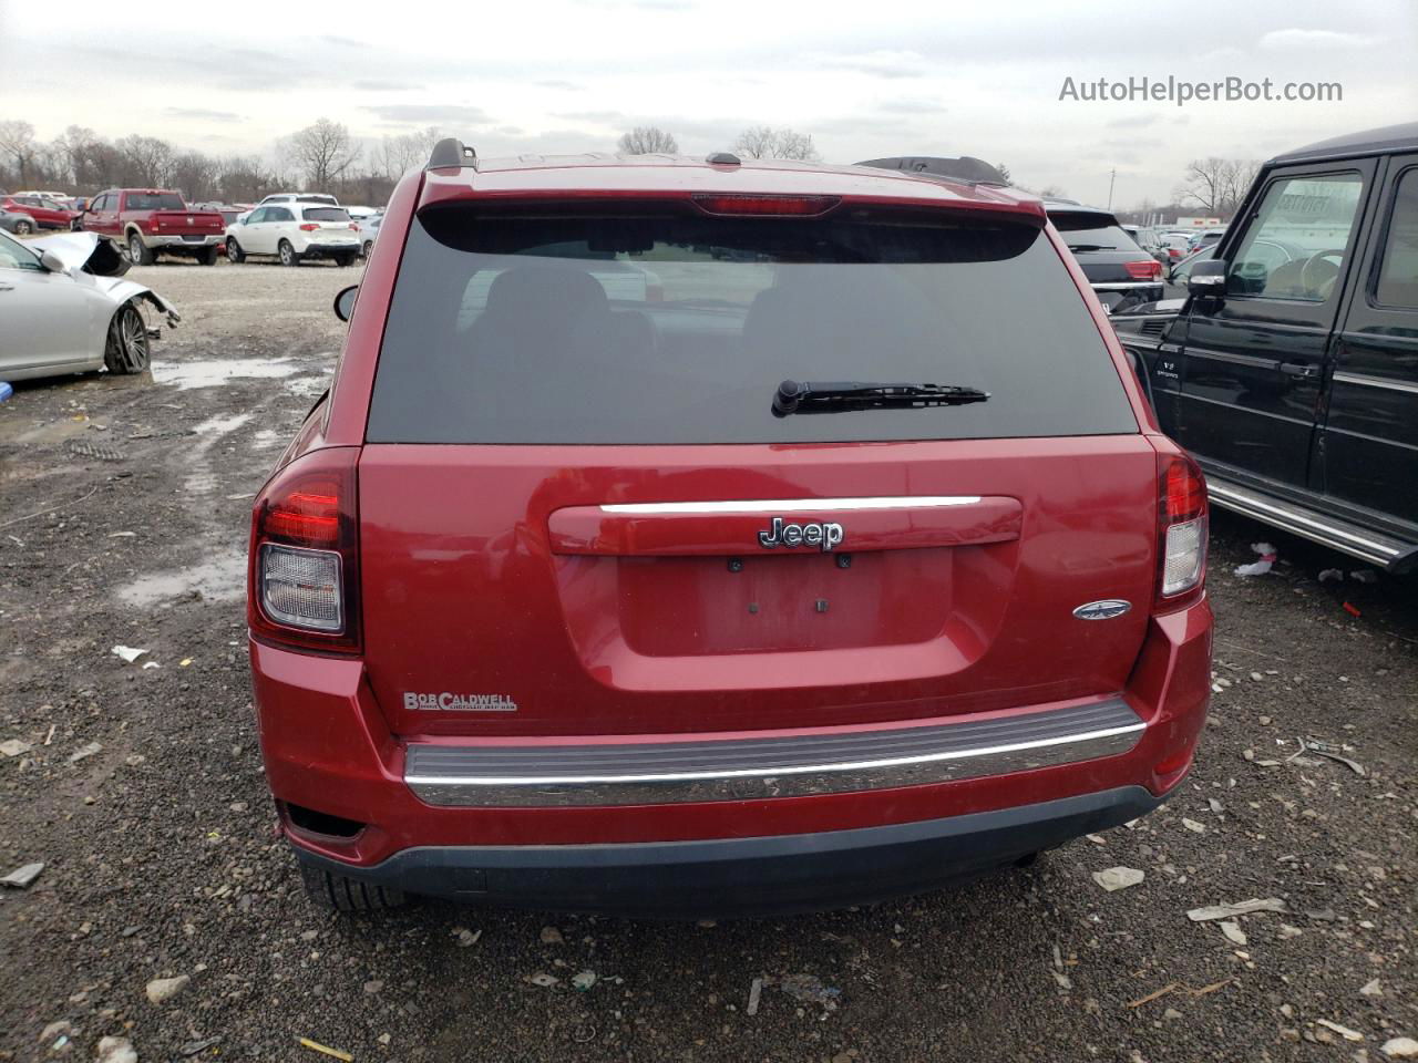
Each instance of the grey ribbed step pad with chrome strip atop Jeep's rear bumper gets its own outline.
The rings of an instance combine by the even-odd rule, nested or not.
[[[951,782],[1112,757],[1146,724],[1120,697],[993,720],[770,738],[596,746],[410,743],[431,805],[536,808],[752,801]]]

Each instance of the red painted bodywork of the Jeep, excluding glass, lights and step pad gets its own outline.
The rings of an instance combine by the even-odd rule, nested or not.
[[[364,823],[312,852],[370,866],[411,846],[750,838],[906,823],[1143,785],[1190,767],[1210,697],[1204,592],[1159,608],[1160,435],[1082,271],[1048,240],[1113,360],[1134,435],[793,446],[366,445],[379,349],[415,210],[448,200],[825,194],[1015,214],[1037,200],[852,167],[672,160],[484,163],[410,173],[366,268],[332,394],[279,466],[360,448],[359,652],[251,643],[279,802]],[[767,519],[625,514],[605,505],[978,496],[973,506],[803,512],[852,556],[757,551]],[[259,500],[259,499],[258,499]],[[737,544],[737,546],[736,546]],[[1122,598],[1106,622],[1072,611]],[[818,608],[827,602],[827,608]],[[756,608],[750,609],[753,605]],[[771,619],[771,624],[764,624]],[[516,713],[406,709],[496,693]],[[1127,754],[859,794],[620,808],[435,808],[403,781],[407,743],[634,744],[980,720],[1122,692],[1147,727]],[[1166,774],[1156,774],[1166,765]]]

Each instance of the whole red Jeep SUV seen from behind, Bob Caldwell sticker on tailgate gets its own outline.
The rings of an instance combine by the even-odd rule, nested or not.
[[[319,901],[852,904],[1190,768],[1205,486],[1037,198],[445,140],[336,310],[248,588]]]

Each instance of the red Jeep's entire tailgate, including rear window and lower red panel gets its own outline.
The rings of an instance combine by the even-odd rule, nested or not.
[[[625,213],[414,223],[359,463],[396,733],[793,729],[1124,686],[1157,455],[1046,234]],[[607,288],[608,261],[658,298]],[[988,400],[776,417],[787,378]],[[1136,608],[1075,615],[1103,600]]]

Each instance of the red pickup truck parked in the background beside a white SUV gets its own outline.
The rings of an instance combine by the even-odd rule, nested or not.
[[[101,191],[89,200],[81,224],[119,241],[136,265],[152,265],[159,251],[216,265],[227,238],[218,211],[196,210],[180,193],[160,189]]]

